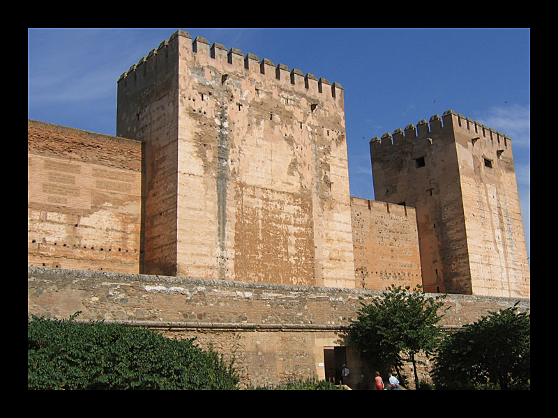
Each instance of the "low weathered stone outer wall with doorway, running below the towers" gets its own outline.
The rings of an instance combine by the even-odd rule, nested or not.
[[[324,348],[346,346],[345,328],[361,307],[359,297],[381,294],[144,274],[27,270],[28,315],[68,318],[82,311],[81,320],[115,320],[148,326],[166,336],[197,336],[199,343],[213,343],[226,358],[234,355],[242,381],[253,385],[324,378]],[[448,295],[441,325],[472,323],[515,302],[520,309],[530,307],[525,299]],[[350,346],[347,364],[354,376],[360,376],[361,363]]]

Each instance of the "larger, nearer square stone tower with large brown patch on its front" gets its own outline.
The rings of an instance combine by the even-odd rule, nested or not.
[[[146,274],[354,287],[343,90],[177,31],[118,82]]]

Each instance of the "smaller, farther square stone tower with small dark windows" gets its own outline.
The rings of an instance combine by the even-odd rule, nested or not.
[[[469,118],[370,141],[375,198],[416,208],[427,292],[530,297],[511,140]]]

